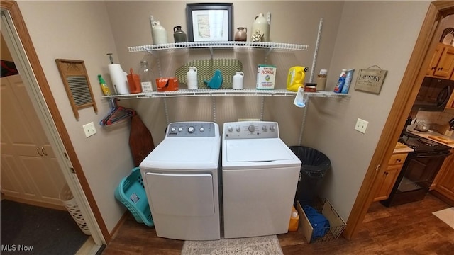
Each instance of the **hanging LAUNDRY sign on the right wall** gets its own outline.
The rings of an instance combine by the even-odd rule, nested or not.
[[[367,69],[360,69],[358,77],[356,78],[355,90],[380,94],[384,77],[386,77],[387,72],[387,70],[370,69],[370,67]]]

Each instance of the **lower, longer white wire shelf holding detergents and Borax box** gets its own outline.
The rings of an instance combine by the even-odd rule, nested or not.
[[[297,92],[285,89],[179,89],[177,91],[147,92],[137,94],[118,94],[103,96],[104,98],[159,98],[178,96],[296,96]],[[332,91],[304,92],[309,97],[346,97],[348,94],[338,94]]]

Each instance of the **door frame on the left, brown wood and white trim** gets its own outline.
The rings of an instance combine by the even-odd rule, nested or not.
[[[0,7],[1,11],[5,13],[5,17],[2,17],[2,27],[6,30],[2,29],[2,33],[6,44],[49,138],[50,145],[52,145],[52,149],[55,149],[55,156],[65,180],[84,215],[84,220],[87,221],[95,244],[108,244],[112,239],[111,234],[104,223],[98,205],[96,205],[96,200],[77,158],[60,111],[58,111],[57,103],[52,96],[18,4],[16,1],[4,0],[0,1]],[[9,24],[4,24],[4,18]]]

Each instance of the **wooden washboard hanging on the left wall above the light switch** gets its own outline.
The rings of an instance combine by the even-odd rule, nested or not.
[[[84,61],[56,59],[55,62],[63,84],[65,84],[66,93],[76,119],[79,120],[77,111],[82,108],[93,106],[94,112],[98,113]]]

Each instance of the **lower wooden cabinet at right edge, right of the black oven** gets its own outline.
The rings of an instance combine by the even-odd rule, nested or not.
[[[451,149],[451,153],[438,171],[431,188],[435,191],[435,196],[445,200],[450,205],[454,205],[454,149]]]

